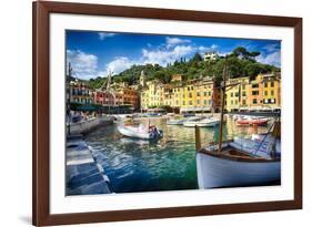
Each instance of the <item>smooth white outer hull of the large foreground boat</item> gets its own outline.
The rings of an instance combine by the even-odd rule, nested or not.
[[[201,189],[265,185],[281,179],[281,162],[241,162],[200,152],[197,171]]]

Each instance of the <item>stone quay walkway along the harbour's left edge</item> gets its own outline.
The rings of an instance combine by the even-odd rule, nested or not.
[[[97,161],[97,152],[88,147],[82,135],[112,123],[110,117],[94,117],[71,125],[66,148],[67,196],[112,193],[109,178]]]

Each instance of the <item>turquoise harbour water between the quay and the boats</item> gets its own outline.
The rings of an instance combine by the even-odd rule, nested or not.
[[[148,120],[141,120],[148,124]],[[150,118],[164,137],[157,142],[122,136],[115,125],[100,127],[85,137],[100,151],[103,166],[115,193],[197,189],[194,128],[167,125],[164,118]],[[266,127],[259,127],[258,133]],[[236,127],[232,120],[224,124],[223,138],[251,135],[252,127]],[[202,127],[202,143],[218,141],[219,126]]]

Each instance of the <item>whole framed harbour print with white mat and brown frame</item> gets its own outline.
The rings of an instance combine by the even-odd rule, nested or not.
[[[33,225],[302,207],[302,19],[33,2]]]

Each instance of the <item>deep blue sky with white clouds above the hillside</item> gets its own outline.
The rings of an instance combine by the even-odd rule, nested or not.
[[[120,73],[133,64],[160,64],[165,66],[194,53],[217,51],[220,55],[236,47],[259,51],[258,61],[281,65],[281,42],[278,40],[249,40],[168,34],[111,33],[93,31],[67,31],[67,62],[71,62],[73,75],[79,79],[107,76]]]

